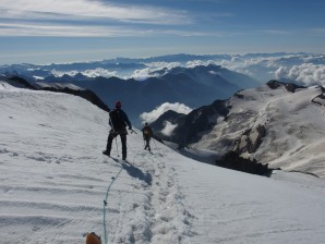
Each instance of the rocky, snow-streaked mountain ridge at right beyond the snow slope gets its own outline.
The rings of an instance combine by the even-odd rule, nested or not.
[[[215,159],[234,150],[270,168],[325,178],[321,86],[303,88],[270,81],[193,110],[179,122],[171,139],[192,149],[212,150]]]

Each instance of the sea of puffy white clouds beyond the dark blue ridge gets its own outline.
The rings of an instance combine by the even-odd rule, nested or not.
[[[128,70],[119,66],[109,69],[97,68],[85,71],[52,71],[55,76],[69,74],[71,76],[81,73],[88,77],[120,77],[123,80],[134,78],[135,81],[145,81],[148,77],[157,77],[167,74],[171,69],[177,66],[194,68],[196,65],[221,65],[228,70],[246,74],[261,83],[266,83],[269,80],[284,80],[296,82],[301,85],[325,85],[325,54],[257,54],[250,56],[229,56],[224,59],[210,60],[191,60],[188,62],[146,62],[144,69]]]

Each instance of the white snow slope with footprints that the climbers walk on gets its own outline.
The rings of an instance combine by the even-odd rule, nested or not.
[[[130,163],[116,147],[107,158],[107,113],[67,94],[0,83],[0,111],[1,243],[84,243],[91,231],[107,243],[325,240],[320,179],[230,171],[157,142],[148,154],[139,131]]]

